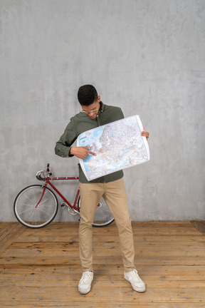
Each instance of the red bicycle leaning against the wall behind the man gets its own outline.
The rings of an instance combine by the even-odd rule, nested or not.
[[[43,185],[30,185],[16,196],[14,200],[14,214],[22,225],[31,228],[40,228],[54,220],[58,212],[58,199],[53,190],[63,199],[61,207],[68,207],[70,215],[79,215],[80,220],[80,189],[78,188],[75,200],[70,203],[61,192],[51,183],[55,180],[79,180],[79,177],[51,178],[50,164],[45,170],[36,173],[36,178],[43,181]],[[53,188],[51,190],[48,185]],[[104,227],[114,221],[103,197],[97,205],[93,221],[94,227]]]

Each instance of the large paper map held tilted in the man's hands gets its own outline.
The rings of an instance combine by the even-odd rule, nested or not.
[[[146,163],[149,146],[140,116],[131,116],[81,133],[77,146],[88,146],[97,155],[80,159],[80,166],[88,181],[118,170]]]

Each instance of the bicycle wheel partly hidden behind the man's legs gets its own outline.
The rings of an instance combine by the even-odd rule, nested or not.
[[[78,199],[78,207],[80,207],[80,197]],[[98,203],[98,207],[95,211],[95,217],[93,221],[94,227],[105,227],[106,225],[110,225],[115,219],[112,216],[109,208],[103,197],[100,199]]]

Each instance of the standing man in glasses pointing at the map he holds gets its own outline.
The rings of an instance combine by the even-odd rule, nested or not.
[[[78,90],[78,101],[82,111],[70,119],[65,128],[65,132],[56,143],[56,154],[68,158],[75,155],[77,158],[85,160],[88,155],[98,155],[89,150],[89,145],[85,147],[72,147],[73,142],[80,133],[96,128],[100,125],[111,123],[124,118],[119,107],[104,105],[98,96],[97,91],[91,85],[81,86]],[[142,132],[147,139],[149,133]],[[120,237],[120,250],[124,265],[124,277],[137,292],[144,292],[145,285],[135,270],[135,250],[132,235],[132,225],[127,206],[127,195],[123,182],[122,170],[105,175],[88,182],[83,170],[79,165],[79,186],[80,186],[80,227],[79,227],[79,247],[80,262],[83,275],[78,284],[81,294],[90,292],[93,281],[93,235],[92,223],[95,210],[103,196],[107,206],[110,208],[118,228]]]

